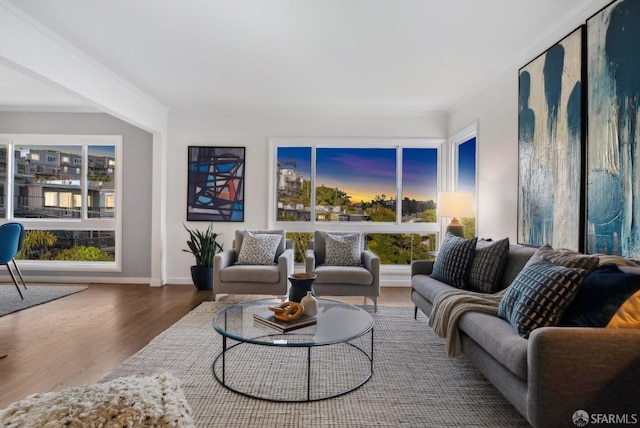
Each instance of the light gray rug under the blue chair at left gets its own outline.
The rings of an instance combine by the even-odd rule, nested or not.
[[[27,289],[25,290],[20,285],[20,291],[24,296],[24,300],[22,300],[15,285],[0,285],[0,317],[86,289],[86,286],[27,284]]]

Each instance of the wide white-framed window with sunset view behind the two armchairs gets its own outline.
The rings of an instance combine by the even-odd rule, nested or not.
[[[272,224],[298,262],[313,230],[359,230],[383,264],[435,250],[442,140],[274,139]]]

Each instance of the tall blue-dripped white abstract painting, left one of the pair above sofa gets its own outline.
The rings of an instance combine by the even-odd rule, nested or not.
[[[583,27],[519,70],[518,242],[581,250]]]

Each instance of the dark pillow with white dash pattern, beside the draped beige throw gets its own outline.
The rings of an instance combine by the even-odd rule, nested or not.
[[[500,301],[498,316],[525,339],[538,327],[557,325],[586,276],[584,269],[558,266],[544,257],[528,263]]]

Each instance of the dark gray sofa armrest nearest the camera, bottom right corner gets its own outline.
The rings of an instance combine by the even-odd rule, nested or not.
[[[539,328],[529,337],[527,357],[533,426],[569,426],[576,410],[638,414],[640,330]]]

